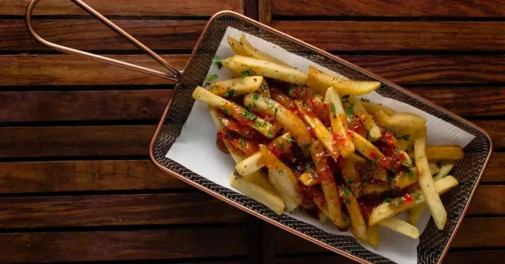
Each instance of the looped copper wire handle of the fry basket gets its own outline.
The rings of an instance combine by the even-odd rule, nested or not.
[[[181,71],[179,71],[176,68],[174,68],[173,66],[171,66],[161,56],[156,54],[156,52],[149,49],[147,46],[145,46],[140,41],[138,41],[137,39],[132,37],[130,34],[126,33],[126,31],[124,31],[123,29],[118,27],[116,24],[112,23],[109,19],[104,17],[102,14],[96,12],[96,10],[92,9],[90,6],[86,5],[81,0],[70,0],[70,1],[72,1],[76,6],[80,7],[81,9],[83,9],[84,11],[89,13],[91,16],[98,19],[100,22],[105,24],[107,27],[112,29],[114,32],[116,32],[117,34],[119,34],[120,36],[122,36],[123,38],[128,40],[134,46],[145,51],[149,57],[151,57],[153,60],[155,60],[160,65],[165,67],[167,70],[169,70],[170,73],[160,72],[157,70],[145,68],[145,67],[138,66],[135,64],[114,60],[114,59],[107,58],[104,56],[99,56],[99,55],[92,54],[92,53],[89,53],[86,51],[82,51],[82,50],[78,50],[75,48],[70,48],[70,47],[59,45],[59,44],[55,44],[53,42],[49,42],[49,41],[43,39],[35,32],[35,30],[33,30],[32,20],[31,20],[33,9],[35,8],[35,5],[39,1],[40,0],[31,0],[30,3],[28,4],[28,7],[26,8],[26,15],[25,15],[26,16],[26,27],[28,28],[28,31],[33,36],[33,38],[35,38],[38,42],[40,42],[50,48],[53,48],[53,49],[56,49],[56,50],[59,50],[59,51],[62,51],[62,52],[68,53],[68,54],[73,54],[73,55],[85,57],[85,58],[99,61],[99,62],[105,62],[105,63],[116,65],[116,66],[119,66],[122,68],[130,69],[130,70],[141,72],[141,73],[146,73],[149,75],[158,76],[158,77],[173,80],[173,81],[177,81],[177,79],[181,76],[181,74],[182,74]]]

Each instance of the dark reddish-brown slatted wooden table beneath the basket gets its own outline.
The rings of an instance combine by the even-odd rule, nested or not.
[[[505,258],[505,1],[86,2],[178,68],[234,10],[474,121],[495,153],[445,263]],[[159,172],[147,147],[173,83],[47,49],[27,3],[0,1],[0,263],[351,262]],[[68,0],[35,14],[48,40],[156,67]]]

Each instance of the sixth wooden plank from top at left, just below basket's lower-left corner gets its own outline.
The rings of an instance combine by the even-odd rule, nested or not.
[[[2,193],[188,188],[148,160],[0,163]]]

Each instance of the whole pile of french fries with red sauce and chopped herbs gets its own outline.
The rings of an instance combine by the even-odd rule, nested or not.
[[[215,58],[234,79],[196,87],[209,105],[218,147],[236,163],[231,186],[275,213],[306,210],[379,245],[379,226],[411,238],[427,207],[443,229],[440,194],[458,185],[449,175],[459,146],[427,146],[426,119],[397,113],[357,96],[375,81],[342,79],[309,67],[294,69],[228,38],[236,55]],[[408,211],[409,221],[396,217]]]

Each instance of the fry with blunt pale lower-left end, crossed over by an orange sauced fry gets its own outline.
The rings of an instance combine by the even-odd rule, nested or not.
[[[291,147],[292,139],[291,139],[291,134],[289,132],[284,133],[282,136],[274,139],[272,142],[270,142],[267,147],[270,149],[270,147],[275,146],[275,149],[279,151],[279,153],[284,153],[285,151],[289,150]],[[265,167],[265,161],[263,160],[263,155],[261,154],[261,151],[258,151],[249,157],[247,159],[244,159],[240,163],[238,163],[235,166],[235,170],[237,170],[238,174],[243,176],[243,177],[248,177],[252,173],[261,170],[261,168]]]

